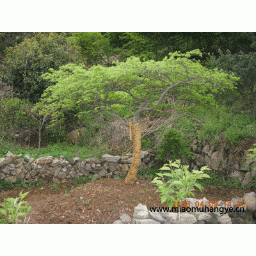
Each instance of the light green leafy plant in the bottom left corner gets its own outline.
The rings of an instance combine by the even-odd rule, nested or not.
[[[0,204],[0,217],[3,217],[0,219],[1,224],[22,222],[19,218],[25,217],[31,210],[28,202],[22,201],[28,193],[20,192],[17,198],[4,198],[4,204]]]

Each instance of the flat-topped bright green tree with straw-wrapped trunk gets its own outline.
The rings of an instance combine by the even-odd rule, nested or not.
[[[86,70],[83,66],[66,65],[58,71],[51,70],[44,78],[56,84],[45,90],[36,108],[42,115],[56,117],[63,108],[86,105],[130,125],[133,157],[125,183],[132,184],[140,165],[139,118],[143,113],[161,106],[168,94],[193,99],[198,104],[214,104],[214,93],[232,88],[237,80],[232,75],[209,70],[199,61],[190,60],[193,55],[202,54],[197,50],[186,54],[174,52],[162,61],[141,62],[139,58],[131,57],[113,67],[98,65]],[[131,118],[129,124],[125,117]]]

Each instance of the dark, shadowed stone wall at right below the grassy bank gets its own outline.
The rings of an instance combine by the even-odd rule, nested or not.
[[[214,145],[204,145],[200,141],[194,140],[191,148],[195,154],[192,167],[196,166],[199,169],[207,165],[215,173],[240,180],[246,186],[256,175],[256,170],[254,170],[256,163],[249,163],[245,157],[248,154],[246,150],[250,147],[252,146],[225,149],[225,145],[222,145],[222,147],[214,149]]]

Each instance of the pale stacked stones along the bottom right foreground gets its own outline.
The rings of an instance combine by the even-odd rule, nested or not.
[[[187,198],[190,207],[195,207],[196,202],[209,207],[209,200],[206,198]],[[196,211],[196,212],[175,212],[175,211],[148,211],[147,205],[139,204],[134,208],[133,217],[122,214],[120,220],[113,224],[237,224],[256,223],[256,195],[254,192],[244,194],[243,198],[232,198],[231,206],[225,206],[223,201],[218,202],[218,207],[237,207],[237,202],[244,201],[244,211],[229,212],[221,214],[220,211]],[[202,207],[200,207],[202,208]]]

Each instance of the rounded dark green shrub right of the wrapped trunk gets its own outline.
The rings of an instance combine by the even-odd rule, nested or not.
[[[189,152],[188,138],[184,137],[182,132],[175,129],[169,129],[164,133],[163,141],[156,148],[156,159],[180,159],[185,157],[186,159],[192,159],[193,153]]]

